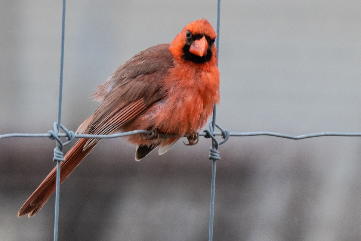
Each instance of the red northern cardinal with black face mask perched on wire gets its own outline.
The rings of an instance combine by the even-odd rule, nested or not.
[[[217,34],[205,19],[189,23],[169,44],[150,47],[126,61],[94,94],[102,101],[77,133],[112,134],[149,130],[127,137],[136,145],[139,161],[159,146],[164,154],[185,134],[189,144],[219,102],[219,72],[214,40]],[[177,137],[165,138],[161,134]],[[77,167],[99,139],[79,139],[61,163],[60,182]],[[18,217],[34,216],[55,191],[56,167],[27,199]]]

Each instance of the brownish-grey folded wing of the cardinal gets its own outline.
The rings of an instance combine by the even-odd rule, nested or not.
[[[103,103],[95,111],[86,134],[110,134],[133,120],[158,100],[164,98],[162,81],[173,67],[173,56],[169,44],[148,48],[123,65],[112,76],[98,86],[94,94]],[[97,139],[89,139],[84,149]]]

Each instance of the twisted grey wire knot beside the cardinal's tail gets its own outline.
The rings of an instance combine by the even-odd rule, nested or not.
[[[48,133],[50,134],[49,138],[52,140],[56,140],[57,141],[57,145],[54,149],[54,158],[53,161],[61,161],[64,162],[64,153],[62,152],[64,146],[68,145],[70,142],[72,142],[74,140],[75,137],[75,133],[72,130],[68,130],[65,128],[64,125],[60,124],[60,129],[64,130],[65,134],[66,134],[66,139],[68,140],[67,142],[63,143],[60,139],[60,137],[58,136],[59,130],[58,130],[58,124],[57,122],[54,123],[53,125],[54,130],[49,130]]]

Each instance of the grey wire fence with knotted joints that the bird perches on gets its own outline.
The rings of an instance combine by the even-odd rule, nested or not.
[[[220,25],[220,0],[217,0],[217,38],[216,38],[216,48],[217,48],[217,59],[219,54],[219,25]],[[74,138],[118,138],[124,137],[127,135],[134,134],[151,134],[147,130],[134,130],[131,132],[123,132],[109,135],[91,135],[91,134],[75,134],[73,131],[69,131],[61,124],[61,106],[62,106],[62,85],[63,85],[63,67],[64,67],[64,39],[65,39],[65,4],[66,0],[62,0],[62,24],[61,24],[61,55],[60,55],[60,79],[59,79],[59,101],[58,101],[58,120],[54,123],[54,130],[50,130],[48,133],[11,133],[11,134],[2,134],[0,139],[3,138],[12,138],[12,137],[48,137],[50,139],[55,139],[56,147],[54,149],[54,158],[53,160],[57,162],[57,174],[56,174],[56,192],[55,192],[55,220],[54,220],[54,241],[57,241],[58,237],[58,219],[59,219],[59,194],[60,194],[60,163],[64,160],[64,154],[62,149],[65,145],[68,145],[73,141]],[[217,64],[218,66],[218,64]],[[209,241],[213,240],[213,221],[214,221],[214,195],[215,195],[215,184],[216,184],[216,164],[217,160],[220,160],[219,152],[217,151],[219,145],[225,143],[229,137],[249,137],[256,135],[269,135],[280,138],[288,139],[305,139],[313,137],[322,137],[322,136],[343,136],[343,137],[361,137],[361,133],[357,132],[320,132],[320,133],[311,133],[303,135],[290,135],[283,133],[275,132],[229,132],[226,129],[223,129],[220,125],[216,123],[216,106],[213,109],[212,121],[209,122],[209,129],[206,129],[203,133],[199,133],[200,136],[205,138],[212,139],[212,146],[210,146],[209,159],[212,160],[212,182],[211,182],[211,193],[210,193],[210,214],[209,214]],[[219,129],[220,132],[214,131]],[[65,133],[61,133],[63,130]],[[161,137],[171,137],[172,135],[160,134]],[[187,137],[188,135],[186,135]],[[216,136],[221,136],[222,141],[218,141]],[[65,137],[66,142],[63,142],[60,138]]]

